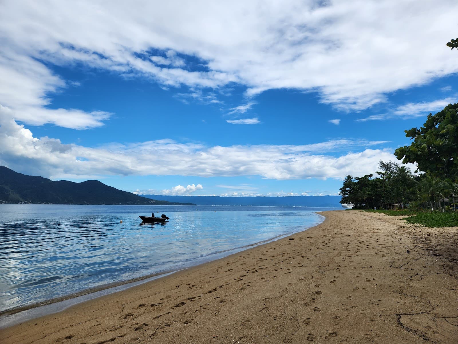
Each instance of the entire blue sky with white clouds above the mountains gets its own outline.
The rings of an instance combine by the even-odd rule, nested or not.
[[[337,194],[457,102],[457,11],[3,1],[0,161],[138,194]]]

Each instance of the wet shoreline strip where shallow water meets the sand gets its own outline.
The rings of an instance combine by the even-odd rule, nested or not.
[[[321,214],[318,214],[318,212],[316,212],[316,214],[322,218],[322,220],[323,220],[322,222],[325,221],[325,216],[322,216]],[[316,227],[319,224],[321,224],[322,222],[320,222],[320,223],[318,223],[318,224],[316,224],[315,226],[312,226],[312,227]],[[306,228],[302,229],[300,232],[304,232],[304,231],[306,231],[306,230],[308,230],[308,229],[310,229],[312,227],[306,227]],[[63,311],[66,308],[71,307],[72,305],[76,305],[78,303],[85,302],[87,300],[93,300],[93,299],[96,299],[96,298],[104,296],[104,295],[113,294],[113,293],[116,293],[118,291],[126,290],[126,289],[132,288],[132,287],[134,287],[136,285],[140,285],[142,283],[148,283],[148,282],[150,282],[150,281],[152,281],[154,279],[166,277],[166,276],[169,276],[170,274],[173,274],[175,272],[179,272],[181,270],[186,270],[186,269],[190,269],[190,268],[193,268],[193,267],[202,266],[202,265],[205,265],[205,264],[207,264],[209,262],[212,262],[212,261],[218,261],[219,259],[224,259],[224,258],[226,258],[226,257],[228,257],[230,255],[234,255],[234,254],[243,252],[245,250],[249,250],[249,249],[257,247],[259,245],[264,245],[264,244],[271,243],[273,241],[277,241],[277,240],[280,240],[280,239],[283,239],[283,238],[287,238],[287,237],[289,237],[291,235],[294,235],[295,233],[300,233],[300,232],[278,234],[277,236],[274,236],[273,238],[270,238],[270,239],[267,239],[267,240],[262,240],[262,241],[259,241],[259,242],[253,243],[253,244],[247,244],[247,245],[244,245],[244,246],[241,246],[241,247],[235,247],[235,248],[229,249],[229,250],[215,251],[214,253],[212,253],[212,255],[208,256],[208,257],[211,256],[214,259],[211,259],[209,261],[199,262],[199,263],[197,263],[195,265],[185,266],[183,268],[179,268],[179,269],[176,269],[176,270],[169,270],[169,271],[153,273],[153,274],[140,276],[140,277],[132,278],[132,279],[125,280],[125,281],[108,283],[108,284],[100,285],[100,286],[89,288],[89,289],[83,289],[83,290],[81,290],[79,292],[68,294],[68,295],[64,295],[64,296],[60,296],[60,297],[56,297],[56,298],[53,298],[53,299],[44,300],[44,301],[36,302],[36,303],[33,303],[33,304],[23,305],[23,306],[7,309],[7,310],[4,310],[4,311],[0,311],[0,330],[3,329],[3,328],[6,328],[6,327],[14,326],[14,325],[16,325],[16,324],[18,324],[20,322],[23,322],[23,321],[33,320],[33,319],[35,319],[35,318],[37,318],[39,316],[45,316],[45,315],[54,314],[54,313]],[[227,253],[229,253],[229,255],[226,255]],[[204,259],[201,257],[199,259],[196,259],[196,262],[202,261],[202,260],[204,260]],[[82,298],[82,297],[84,297],[83,300],[81,300],[81,301],[78,300],[79,298]],[[71,300],[75,300],[75,301],[71,302]],[[65,302],[65,305],[62,305],[62,306],[55,305],[55,304],[62,303],[64,301],[70,301],[70,302]],[[51,306],[51,305],[55,305],[55,307],[48,307],[48,306]],[[35,312],[29,312],[28,315],[23,316],[23,317],[22,316],[16,316],[16,320],[8,319],[9,316],[15,315],[17,313],[22,313],[22,312],[31,311],[31,310],[35,310],[37,308],[44,308],[44,307],[48,307],[49,311],[36,310]],[[35,316],[34,314],[37,314],[37,315]],[[5,325],[5,324],[8,324],[8,325]]]

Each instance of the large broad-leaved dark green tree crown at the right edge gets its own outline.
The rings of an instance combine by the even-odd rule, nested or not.
[[[449,104],[436,115],[429,114],[423,127],[405,130],[413,139],[394,155],[403,163],[416,163],[420,171],[440,178],[458,176],[458,104]]]

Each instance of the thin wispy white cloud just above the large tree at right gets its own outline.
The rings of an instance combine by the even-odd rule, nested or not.
[[[433,114],[441,111],[448,104],[454,104],[457,101],[457,98],[445,98],[438,99],[433,101],[424,101],[420,103],[407,103],[404,105],[399,105],[393,111],[387,114],[381,115],[372,115],[366,118],[360,118],[358,121],[370,121],[370,120],[385,120],[388,118],[415,118],[415,117],[426,117],[430,112]]]

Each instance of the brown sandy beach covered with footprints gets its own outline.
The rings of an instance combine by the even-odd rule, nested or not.
[[[0,331],[27,343],[458,343],[458,228],[362,211]]]

